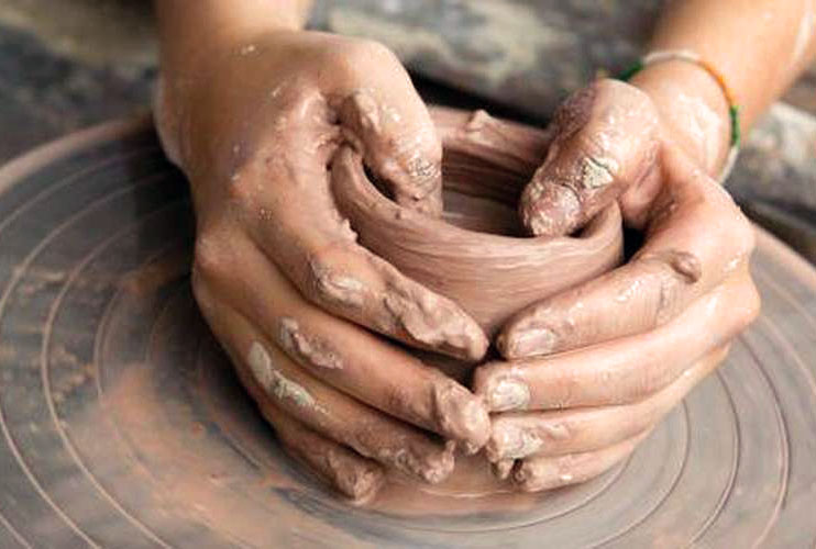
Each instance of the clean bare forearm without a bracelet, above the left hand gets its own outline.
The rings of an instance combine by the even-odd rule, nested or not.
[[[212,47],[271,30],[302,29],[312,0],[157,0],[162,66],[185,72]]]

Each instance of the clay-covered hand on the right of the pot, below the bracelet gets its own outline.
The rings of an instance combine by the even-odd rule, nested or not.
[[[488,457],[522,490],[581,482],[628,456],[758,314],[753,231],[661,120],[639,89],[592,85],[556,113],[523,193],[533,234],[572,232],[617,199],[644,240],[622,267],[515,315],[497,343],[507,361],[475,374],[500,412]]]

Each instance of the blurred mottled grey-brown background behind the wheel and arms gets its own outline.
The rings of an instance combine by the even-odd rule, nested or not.
[[[661,3],[318,0],[311,26],[390,46],[429,100],[545,123],[570,91],[638,57]],[[0,0],[0,164],[150,108],[157,74],[151,5]],[[816,262],[816,66],[749,136],[728,189]]]

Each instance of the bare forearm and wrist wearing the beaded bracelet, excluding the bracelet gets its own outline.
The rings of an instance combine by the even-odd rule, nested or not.
[[[740,108],[742,128],[784,92],[816,54],[816,0],[683,0],[660,20],[651,51],[693,51],[724,77]],[[730,130],[727,102],[716,81],[699,67],[670,61],[648,67],[633,83],[650,93],[669,119],[688,119],[682,102],[698,102],[712,116],[698,115],[697,133],[710,143],[703,152],[687,128],[676,132],[684,148],[708,156],[709,171],[725,159]],[[670,121],[682,126],[687,120]],[[693,133],[693,132],[691,132]],[[712,150],[714,142],[718,150]],[[712,156],[716,159],[710,158]]]

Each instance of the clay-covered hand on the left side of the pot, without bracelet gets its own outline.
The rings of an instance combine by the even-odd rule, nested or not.
[[[465,388],[371,330],[467,359],[487,346],[452,301],[356,243],[329,165],[361,152],[398,202],[438,215],[441,145],[408,75],[370,42],[277,32],[166,76],[158,125],[191,182],[197,301],[278,436],[344,494],[383,470],[428,482],[476,449]],[[424,430],[423,430],[424,429]]]

